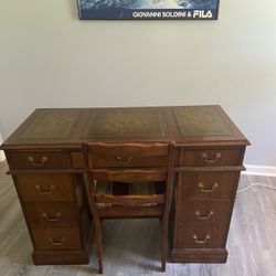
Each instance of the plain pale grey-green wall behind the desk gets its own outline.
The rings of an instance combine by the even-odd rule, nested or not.
[[[276,166],[276,1],[217,21],[79,21],[75,0],[1,1],[0,131],[36,107],[220,104]]]

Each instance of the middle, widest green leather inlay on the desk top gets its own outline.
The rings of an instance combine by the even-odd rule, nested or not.
[[[162,137],[163,118],[158,109],[106,109],[92,112],[83,134],[88,137]]]

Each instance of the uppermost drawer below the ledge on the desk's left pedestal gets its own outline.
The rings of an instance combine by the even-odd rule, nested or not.
[[[23,201],[74,201],[74,183],[66,173],[20,173],[14,176]]]

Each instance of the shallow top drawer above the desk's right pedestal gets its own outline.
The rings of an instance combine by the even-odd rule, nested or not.
[[[187,149],[180,156],[180,166],[212,167],[237,166],[241,163],[241,149]]]

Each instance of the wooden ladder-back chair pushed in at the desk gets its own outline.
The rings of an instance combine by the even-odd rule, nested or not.
[[[174,146],[169,142],[85,142],[86,192],[103,273],[103,219],[159,217],[161,270],[166,270]]]

